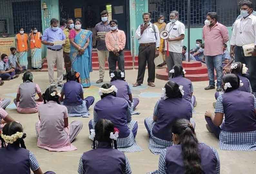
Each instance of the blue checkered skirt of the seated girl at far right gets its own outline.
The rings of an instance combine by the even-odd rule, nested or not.
[[[256,151],[256,131],[225,132],[222,130],[219,145],[221,150]]]

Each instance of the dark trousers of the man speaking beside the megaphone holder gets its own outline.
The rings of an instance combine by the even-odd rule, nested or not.
[[[144,74],[146,70],[146,64],[148,65],[148,83],[155,82],[155,43],[150,46],[139,47],[139,70],[137,83],[142,84],[144,80]]]

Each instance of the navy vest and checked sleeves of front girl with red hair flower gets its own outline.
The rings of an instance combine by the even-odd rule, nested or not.
[[[84,152],[78,165],[78,174],[131,174],[128,158],[123,152],[100,142],[96,149]]]

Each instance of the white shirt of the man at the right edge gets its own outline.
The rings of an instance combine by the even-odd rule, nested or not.
[[[256,16],[250,16],[236,20],[232,31],[230,45],[242,47],[243,45],[256,45]]]

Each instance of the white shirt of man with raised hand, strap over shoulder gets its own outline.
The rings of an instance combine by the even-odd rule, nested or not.
[[[155,27],[155,32],[152,28],[154,25]],[[156,38],[155,38],[156,36]],[[145,44],[145,43],[156,43],[156,48],[160,47],[160,35],[159,35],[159,30],[158,27],[155,24],[152,24],[150,22],[150,25],[148,28],[146,28],[141,35],[141,25],[139,25],[138,29],[136,30],[136,38],[139,40],[139,43]]]

